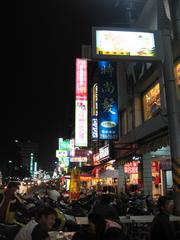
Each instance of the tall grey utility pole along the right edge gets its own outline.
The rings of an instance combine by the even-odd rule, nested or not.
[[[176,83],[174,79],[174,61],[169,20],[166,16],[163,0],[156,0],[158,7],[158,30],[162,31],[164,59],[163,73],[168,113],[168,128],[172,158],[175,213],[180,215],[180,121]]]

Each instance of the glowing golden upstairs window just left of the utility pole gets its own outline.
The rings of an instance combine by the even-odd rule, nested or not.
[[[152,88],[143,94],[144,120],[148,120],[159,112],[161,107],[160,84],[156,83]]]

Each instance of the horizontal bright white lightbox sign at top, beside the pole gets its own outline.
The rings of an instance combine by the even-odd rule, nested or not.
[[[155,31],[92,28],[93,58],[161,60],[160,35]]]

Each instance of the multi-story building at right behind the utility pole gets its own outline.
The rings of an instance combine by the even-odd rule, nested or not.
[[[148,0],[136,23],[137,28],[158,30],[161,24],[171,29],[174,76],[180,103],[180,1],[164,0],[166,21],[158,19],[157,1]],[[162,26],[164,27],[164,26]],[[131,181],[124,173],[121,161],[142,159],[143,189],[154,197],[172,191],[172,161],[170,153],[168,112],[163,67],[160,63],[119,63],[118,91],[120,109],[120,139],[116,143],[120,162],[120,187]],[[179,104],[180,106],[180,104]],[[180,107],[179,107],[180,109]],[[128,150],[129,149],[129,150]],[[129,168],[132,170],[132,168]],[[124,178],[124,174],[127,175]],[[127,178],[126,178],[127,177]],[[137,178],[140,178],[137,176]],[[132,181],[133,182],[133,181]]]

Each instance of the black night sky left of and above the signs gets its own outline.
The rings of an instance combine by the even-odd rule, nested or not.
[[[74,62],[91,27],[125,22],[119,0],[2,1],[0,159],[14,139],[39,143],[40,162],[55,160],[58,137],[74,119]],[[2,3],[1,3],[2,4]]]

